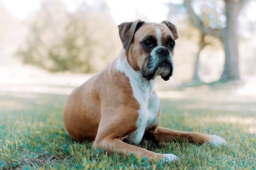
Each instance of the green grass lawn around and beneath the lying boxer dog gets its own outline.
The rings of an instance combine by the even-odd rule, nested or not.
[[[228,111],[225,103],[220,104],[223,109],[214,110],[189,107],[200,105],[196,100],[161,100],[161,126],[216,134],[225,138],[227,145],[172,142],[158,147],[150,141],[140,145],[180,158],[160,165],[136,155],[94,151],[92,142],[71,140],[61,117],[66,99],[50,94],[0,95],[0,169],[255,169],[256,137],[248,131],[256,127],[255,112]]]

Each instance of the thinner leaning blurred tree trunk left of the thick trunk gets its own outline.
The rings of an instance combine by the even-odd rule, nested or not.
[[[193,74],[192,81],[201,81],[201,79],[198,76],[198,70],[199,70],[199,56],[200,56],[201,51],[206,46],[206,43],[204,41],[204,37],[205,37],[205,34],[201,34],[201,38],[200,38],[200,42],[199,42],[199,49],[198,49],[198,52],[197,52],[197,55],[196,55],[196,63],[195,63],[195,68],[194,68],[194,74]]]

